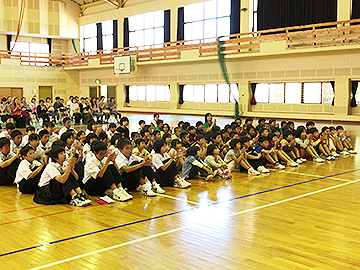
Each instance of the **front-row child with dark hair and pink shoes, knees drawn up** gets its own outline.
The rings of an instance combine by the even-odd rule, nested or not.
[[[206,152],[204,163],[223,179],[231,179],[226,163],[220,157],[220,149],[216,144],[210,144]]]

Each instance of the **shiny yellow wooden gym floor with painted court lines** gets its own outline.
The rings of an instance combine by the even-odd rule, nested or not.
[[[359,151],[360,128],[344,126]],[[359,269],[360,154],[191,183],[85,208],[1,187],[1,269]]]

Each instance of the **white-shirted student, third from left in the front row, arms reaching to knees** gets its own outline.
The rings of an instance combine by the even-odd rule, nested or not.
[[[115,163],[120,169],[124,187],[133,190],[138,188],[140,184],[141,194],[150,197],[156,196],[157,193],[165,193],[165,190],[155,180],[150,156],[142,159],[132,154],[131,142],[127,139],[120,139],[118,148],[120,154],[116,157]],[[148,186],[145,177],[151,182],[151,188]]]

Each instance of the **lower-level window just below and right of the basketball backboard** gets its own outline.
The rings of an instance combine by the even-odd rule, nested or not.
[[[169,85],[146,85],[129,87],[131,101],[170,101]]]

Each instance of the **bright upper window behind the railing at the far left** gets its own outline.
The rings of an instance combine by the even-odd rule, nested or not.
[[[14,41],[10,42],[11,48],[14,46],[14,43],[15,43]],[[47,43],[16,42],[13,51],[21,52],[22,65],[30,65],[30,66],[35,66],[35,64],[37,66],[49,65],[48,64],[49,44]]]

